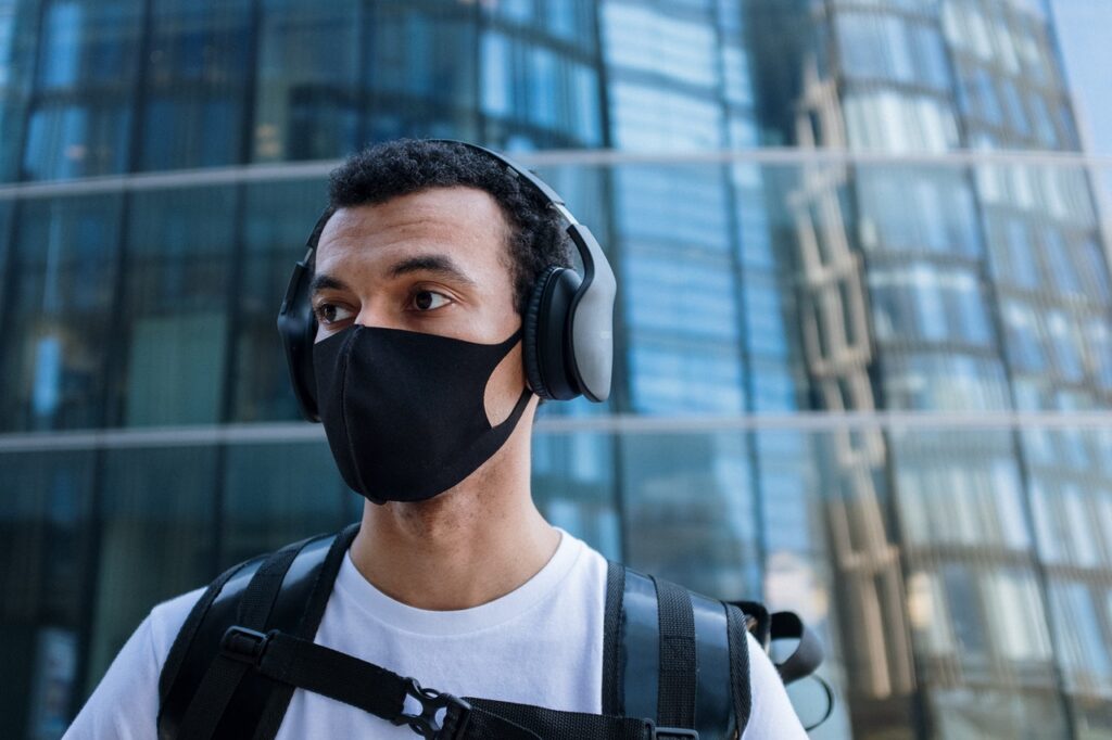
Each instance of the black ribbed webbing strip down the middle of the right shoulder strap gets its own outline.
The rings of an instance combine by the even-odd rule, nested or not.
[[[653,579],[661,624],[661,682],[656,722],[663,727],[695,727],[695,690],[698,674],[695,614],[687,589]]]

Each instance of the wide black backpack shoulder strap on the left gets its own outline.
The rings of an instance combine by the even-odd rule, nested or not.
[[[311,639],[344,553],[358,530],[309,538],[249,560],[212,582],[170,649],[159,679],[158,733],[272,738],[292,689],[247,670],[222,648],[229,628],[279,629]],[[236,711],[225,712],[229,706]]]

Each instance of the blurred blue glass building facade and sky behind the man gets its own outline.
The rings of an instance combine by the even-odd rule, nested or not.
[[[0,0],[0,736],[60,736],[160,600],[358,516],[276,312],[327,172],[428,136],[535,167],[618,277],[610,401],[537,422],[554,523],[800,611],[816,738],[1112,738],[1110,28]]]

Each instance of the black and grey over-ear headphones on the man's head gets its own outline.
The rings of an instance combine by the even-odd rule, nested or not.
[[[466,141],[431,139],[464,146],[505,166],[507,174],[522,178],[566,222],[566,233],[583,260],[583,276],[558,264],[549,266],[533,286],[522,317],[525,377],[533,392],[544,399],[567,401],[580,393],[592,401],[610,394],[614,364],[614,294],[616,283],[602,247],[587,227],[579,223],[564,199],[540,178],[510,159]],[[312,368],[312,344],[317,320],[312,313],[309,282],[316,261],[317,242],[332,214],[328,208],[306,242],[305,258],[294,268],[278,311],[278,333],[286,348],[286,362],[301,413],[320,421],[317,410],[317,380]]]

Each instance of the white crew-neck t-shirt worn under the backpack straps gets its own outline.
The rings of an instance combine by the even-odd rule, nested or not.
[[[112,661],[63,740],[157,736],[158,677],[202,590],[151,610]],[[552,560],[520,588],[459,611],[426,611],[390,599],[345,558],[316,642],[411,676],[421,686],[553,709],[602,711],[606,560],[562,532]],[[747,740],[806,737],[775,669],[749,640],[753,712]],[[294,692],[277,740],[413,740],[360,709]]]

